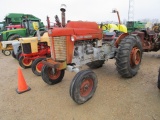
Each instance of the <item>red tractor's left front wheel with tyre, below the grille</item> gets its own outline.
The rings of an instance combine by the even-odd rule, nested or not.
[[[53,85],[62,81],[64,73],[64,70],[57,70],[47,65],[44,65],[42,67],[41,76],[45,83]]]

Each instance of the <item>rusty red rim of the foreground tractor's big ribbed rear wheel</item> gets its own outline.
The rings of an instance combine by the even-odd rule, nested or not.
[[[131,51],[131,62],[133,65],[138,65],[141,61],[140,50],[137,47],[134,47]]]

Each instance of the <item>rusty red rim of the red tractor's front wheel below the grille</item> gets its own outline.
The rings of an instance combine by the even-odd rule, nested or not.
[[[58,77],[60,76],[60,74],[61,74],[61,71],[60,71],[60,70],[56,70],[56,69],[55,69],[55,72],[54,72],[54,73],[53,73],[53,71],[52,71],[52,68],[49,68],[49,70],[48,70],[48,76],[49,76],[49,78],[52,79],[52,80],[58,79]]]

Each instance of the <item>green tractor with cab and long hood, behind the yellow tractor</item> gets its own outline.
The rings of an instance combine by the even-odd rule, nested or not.
[[[21,28],[7,30],[0,33],[0,41],[16,40],[20,37],[36,36],[36,30],[33,23],[37,23],[40,31],[45,31],[43,22],[39,18],[29,15],[23,15],[21,20]]]

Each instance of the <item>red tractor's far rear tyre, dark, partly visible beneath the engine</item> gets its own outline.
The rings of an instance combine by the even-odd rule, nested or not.
[[[88,67],[90,67],[91,69],[96,69],[96,68],[102,67],[104,62],[105,62],[105,60],[97,60],[97,61],[93,61],[93,62],[87,63],[86,65]]]

